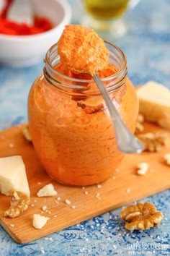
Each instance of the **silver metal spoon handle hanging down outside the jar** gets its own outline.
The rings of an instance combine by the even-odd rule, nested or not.
[[[96,82],[109,110],[112,123],[115,127],[115,135],[118,148],[123,153],[141,153],[143,151],[142,143],[140,140],[138,140],[137,137],[133,135],[132,132],[130,132],[128,127],[126,127],[125,123],[122,121],[120,114],[118,113],[114,103],[112,103],[111,98],[109,98],[109,94],[107,93],[107,90],[104,87],[104,84],[99,75],[94,74],[91,77],[93,78],[94,82]]]

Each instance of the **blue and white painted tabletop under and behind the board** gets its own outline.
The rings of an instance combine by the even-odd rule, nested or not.
[[[77,0],[78,1],[78,0]],[[79,22],[76,1],[73,23]],[[128,34],[104,39],[120,46],[128,59],[134,85],[154,80],[170,88],[170,1],[141,0],[124,17]],[[29,68],[0,67],[0,129],[27,121],[27,94],[43,63]],[[164,213],[158,228],[126,231],[120,210],[72,226],[30,244],[17,244],[0,227],[0,256],[9,255],[170,255],[170,191],[140,200]]]

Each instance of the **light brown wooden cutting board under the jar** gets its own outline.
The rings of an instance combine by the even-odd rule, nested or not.
[[[9,197],[0,195],[1,226],[17,243],[32,242],[42,236],[53,234],[68,226],[170,187],[170,166],[166,166],[164,163],[164,154],[170,153],[168,149],[161,150],[159,153],[125,155],[119,168],[115,171],[113,179],[104,182],[101,188],[94,185],[84,189],[58,184],[45,174],[45,170],[37,160],[32,143],[24,139],[22,135],[24,125],[0,132],[0,157],[22,155],[30,184],[30,206],[17,218],[4,218],[4,211],[9,208]],[[162,131],[163,129],[153,126],[153,124],[145,124],[146,132],[158,130]],[[149,170],[145,176],[136,174],[136,166],[140,162],[149,164]],[[49,183],[54,185],[58,195],[37,197],[38,190]],[[86,194],[88,192],[87,195],[85,191]],[[57,197],[61,197],[61,200],[56,200]],[[66,199],[71,201],[71,205],[66,204]],[[42,206],[47,206],[49,212],[42,213]],[[72,206],[76,208],[71,208]],[[42,229],[35,229],[32,226],[32,216],[35,213],[50,218]]]

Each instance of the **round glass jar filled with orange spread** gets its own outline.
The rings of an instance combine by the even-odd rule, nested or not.
[[[125,54],[105,42],[115,74],[102,79],[123,121],[134,132],[138,98],[127,77]],[[114,175],[123,153],[117,148],[114,127],[93,80],[61,74],[58,45],[45,56],[42,74],[28,97],[28,119],[38,158],[50,177],[63,184],[86,186]]]

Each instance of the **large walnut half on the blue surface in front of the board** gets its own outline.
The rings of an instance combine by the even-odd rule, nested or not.
[[[120,216],[125,223],[125,229],[144,230],[154,226],[159,226],[164,216],[163,213],[157,212],[156,207],[151,202],[137,202],[136,205],[129,205],[122,209]]]

